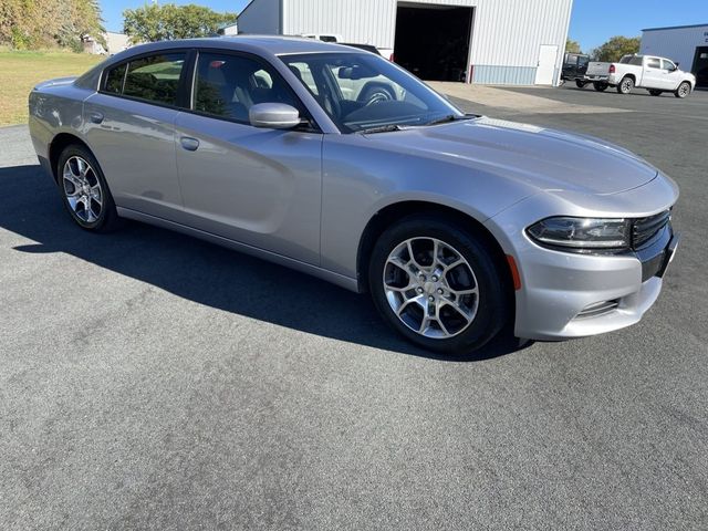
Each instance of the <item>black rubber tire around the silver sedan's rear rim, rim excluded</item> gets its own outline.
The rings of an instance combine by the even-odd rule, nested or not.
[[[86,174],[86,177],[91,181],[91,184],[98,183],[101,185],[101,210],[95,217],[95,220],[87,221],[86,219],[82,218],[74,210],[74,208],[72,208],[67,197],[67,189],[73,185],[70,185],[66,179],[64,179],[63,170],[66,162],[70,159],[75,159],[75,157],[82,158],[91,167],[91,173]],[[115,230],[121,226],[121,218],[118,218],[118,212],[115,208],[115,201],[113,200],[113,195],[111,194],[108,184],[106,183],[106,179],[103,175],[103,170],[101,169],[96,157],[94,157],[91,150],[88,150],[85,146],[81,144],[72,144],[64,148],[62,154],[59,156],[59,160],[56,164],[56,176],[59,190],[64,204],[64,208],[66,208],[66,211],[76,222],[76,225],[79,225],[79,227],[92,232],[111,232],[112,230]]]

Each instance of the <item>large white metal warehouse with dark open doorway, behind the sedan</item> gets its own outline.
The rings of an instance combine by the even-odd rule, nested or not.
[[[556,84],[572,0],[252,0],[239,32],[394,49],[426,80]]]

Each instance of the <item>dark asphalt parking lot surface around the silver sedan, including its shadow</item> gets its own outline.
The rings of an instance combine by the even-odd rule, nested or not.
[[[27,127],[0,129],[0,527],[706,529],[708,93],[497,90],[456,101],[678,181],[684,240],[638,325],[435,357],[365,296],[138,223],[81,231]]]

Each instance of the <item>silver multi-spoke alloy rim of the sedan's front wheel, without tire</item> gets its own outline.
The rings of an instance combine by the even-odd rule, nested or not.
[[[407,327],[444,340],[477,316],[479,287],[461,252],[436,238],[410,238],[394,248],[384,267],[384,292]]]

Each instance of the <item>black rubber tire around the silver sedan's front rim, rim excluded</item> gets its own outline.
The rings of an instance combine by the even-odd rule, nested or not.
[[[395,313],[386,298],[384,274],[389,254],[403,242],[412,238],[435,238],[451,246],[461,254],[472,270],[478,288],[477,313],[471,322],[461,327],[457,335],[444,339],[427,337],[406,325]],[[388,228],[378,239],[371,256],[368,284],[374,304],[384,320],[404,337],[426,350],[464,355],[471,353],[504,327],[511,314],[510,299],[507,296],[507,263],[494,259],[485,238],[464,230],[459,223],[440,216],[415,215]],[[388,266],[391,268],[391,266]],[[447,274],[455,271],[452,268]],[[406,273],[403,273],[406,274]],[[414,275],[408,274],[409,279]],[[426,295],[421,295],[426,296]],[[440,295],[442,298],[442,295]],[[420,310],[423,314],[423,311]]]

